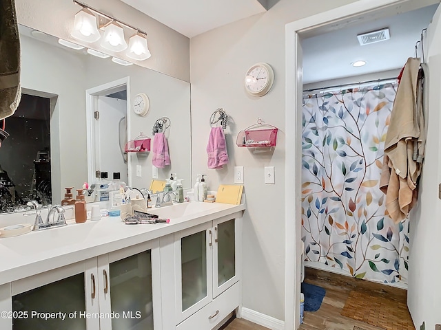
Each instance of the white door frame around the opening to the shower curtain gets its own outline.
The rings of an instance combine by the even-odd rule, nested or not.
[[[439,1],[418,0],[358,0],[327,12],[285,25],[285,329],[298,329],[300,325],[300,234],[301,234],[301,109],[302,107],[302,49],[301,36],[314,31],[337,30],[357,19],[371,19],[380,12],[395,14],[422,8]],[[409,5],[416,8],[403,7]],[[337,24],[336,24],[337,23]],[[293,92],[294,91],[294,92]],[[295,143],[292,144],[292,141]],[[292,203],[292,201],[296,201]],[[293,257],[295,256],[295,257]]]

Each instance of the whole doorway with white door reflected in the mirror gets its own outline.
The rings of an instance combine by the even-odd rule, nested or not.
[[[101,178],[131,184],[130,158],[124,152],[129,126],[129,78],[123,78],[86,91],[88,117],[88,180],[94,184]]]

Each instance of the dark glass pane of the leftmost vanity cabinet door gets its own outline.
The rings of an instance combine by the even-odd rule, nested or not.
[[[12,296],[13,330],[86,330],[85,275],[76,274]],[[49,315],[49,317],[47,317]]]

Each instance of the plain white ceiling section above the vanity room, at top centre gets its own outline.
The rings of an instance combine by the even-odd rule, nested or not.
[[[121,0],[192,38],[219,26],[266,12],[274,0]]]

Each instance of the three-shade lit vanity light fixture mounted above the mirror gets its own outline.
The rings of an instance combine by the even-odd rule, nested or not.
[[[80,5],[83,9],[75,15],[74,30],[71,34],[76,39],[94,43],[100,39],[99,30],[103,30],[103,38],[101,39],[101,47],[112,52],[122,52],[127,49],[127,42],[124,38],[124,28],[130,28],[135,34],[130,38],[129,50],[127,50],[127,57],[133,58],[136,61],[144,61],[150,58],[150,50],[147,47],[147,34],[132,25],[123,23],[114,17],[111,17],[99,10],[91,8],[85,3],[73,0],[76,5]],[[99,30],[96,28],[96,17],[99,21]],[[93,18],[93,22],[92,22]],[[92,28],[93,29],[92,29]],[[93,33],[91,32],[93,30]],[[96,39],[91,36],[97,34]],[[87,36],[87,34],[90,34]],[[87,40],[86,40],[87,39]]]

